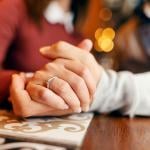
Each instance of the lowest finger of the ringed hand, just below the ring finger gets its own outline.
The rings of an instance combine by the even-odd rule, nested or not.
[[[51,67],[51,71],[53,70],[54,68]],[[47,79],[53,74],[46,70],[37,71],[33,79],[27,84],[26,90],[35,102],[48,105],[54,109],[68,109],[67,104],[59,95],[45,87]]]

